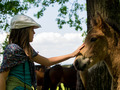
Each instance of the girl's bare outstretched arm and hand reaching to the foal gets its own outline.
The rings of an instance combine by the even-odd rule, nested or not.
[[[84,44],[81,45],[77,50],[75,50],[71,54],[57,56],[57,57],[51,57],[51,58],[45,58],[45,57],[38,54],[36,57],[32,58],[32,60],[39,63],[39,64],[42,64],[42,65],[45,65],[45,66],[50,66],[50,65],[65,61],[69,58],[75,57],[76,55],[78,55],[78,53],[80,52],[80,50],[83,47],[84,47]]]

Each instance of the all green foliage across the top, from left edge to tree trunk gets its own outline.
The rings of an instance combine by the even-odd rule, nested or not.
[[[16,14],[24,14],[31,6],[38,7],[40,10],[34,15],[41,18],[44,11],[55,4],[60,6],[58,17],[56,18],[58,27],[61,29],[64,24],[75,27],[75,30],[82,30],[81,22],[83,18],[79,17],[85,7],[78,2],[79,0],[0,0],[0,29],[9,32],[9,19]],[[8,38],[8,37],[7,37]],[[7,38],[2,44],[4,47],[8,44]]]

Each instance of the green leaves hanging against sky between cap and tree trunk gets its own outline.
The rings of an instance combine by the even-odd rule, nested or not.
[[[30,2],[34,6],[40,7],[40,10],[35,14],[37,18],[44,15],[44,11],[52,5],[56,4],[60,6],[58,17],[56,18],[59,29],[62,29],[64,24],[69,24],[70,27],[75,27],[75,30],[82,30],[81,23],[82,17],[79,17],[80,12],[85,10],[83,4],[80,4],[79,0],[24,0]]]

